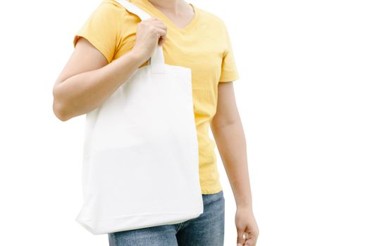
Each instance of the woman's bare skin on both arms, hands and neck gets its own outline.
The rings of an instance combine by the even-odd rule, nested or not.
[[[193,18],[192,7],[183,0],[150,2],[180,28]],[[166,30],[164,22],[156,18],[140,22],[132,50],[111,63],[87,39],[80,37],[53,87],[56,117],[64,122],[99,107],[153,55],[157,44],[164,44]],[[233,82],[218,83],[218,103],[211,131],[237,205],[237,242],[255,246],[259,228],[252,210],[245,134],[235,103]]]

